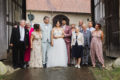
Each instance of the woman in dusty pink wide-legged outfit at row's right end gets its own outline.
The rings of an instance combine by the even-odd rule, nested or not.
[[[92,60],[93,67],[96,67],[96,56],[98,61],[102,64],[104,68],[104,59],[103,59],[103,49],[102,49],[102,41],[103,41],[103,31],[101,30],[101,24],[96,24],[95,31],[92,32],[92,41],[90,48],[90,55]]]

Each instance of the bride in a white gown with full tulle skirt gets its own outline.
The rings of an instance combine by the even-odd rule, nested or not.
[[[67,49],[63,37],[64,30],[57,21],[51,34],[52,47],[48,50],[47,67],[67,67]]]

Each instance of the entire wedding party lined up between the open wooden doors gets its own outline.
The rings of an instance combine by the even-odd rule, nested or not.
[[[25,20],[12,29],[10,46],[13,49],[14,68],[49,68],[67,67],[72,59],[75,67],[88,65],[91,57],[93,67],[96,67],[96,57],[104,68],[102,51],[103,32],[101,24],[90,21],[87,26],[82,20],[79,26],[66,24],[66,20],[56,21],[55,26],[49,23],[49,17],[43,18],[44,23],[31,24]]]

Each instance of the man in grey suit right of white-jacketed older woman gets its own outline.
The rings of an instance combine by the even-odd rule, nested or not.
[[[83,50],[83,57],[82,57],[82,64],[88,65],[88,59],[90,55],[90,42],[91,42],[91,32],[87,30],[85,24],[83,24],[83,35],[84,35],[84,50]]]

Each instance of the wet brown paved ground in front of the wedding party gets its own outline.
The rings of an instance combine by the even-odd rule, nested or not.
[[[76,69],[48,68],[48,69],[21,69],[8,80],[95,80],[90,70],[86,67]]]

